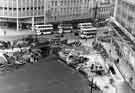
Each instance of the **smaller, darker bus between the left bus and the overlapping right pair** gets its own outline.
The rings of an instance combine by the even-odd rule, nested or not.
[[[59,33],[72,32],[73,26],[72,24],[60,24],[58,26]]]

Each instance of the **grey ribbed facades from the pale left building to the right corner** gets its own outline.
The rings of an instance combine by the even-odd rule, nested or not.
[[[112,0],[48,0],[47,22],[105,19],[113,15]]]

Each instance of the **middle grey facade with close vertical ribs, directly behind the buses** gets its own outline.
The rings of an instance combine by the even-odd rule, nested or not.
[[[73,21],[94,17],[95,0],[48,0],[47,22]]]

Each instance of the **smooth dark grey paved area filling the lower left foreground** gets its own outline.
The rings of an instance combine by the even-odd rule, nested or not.
[[[0,74],[0,93],[90,93],[87,80],[55,57]],[[97,92],[96,92],[97,93]]]

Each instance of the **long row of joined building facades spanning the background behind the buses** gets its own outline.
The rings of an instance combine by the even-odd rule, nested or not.
[[[34,24],[107,18],[112,0],[0,0],[0,25],[30,28]]]

